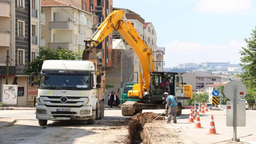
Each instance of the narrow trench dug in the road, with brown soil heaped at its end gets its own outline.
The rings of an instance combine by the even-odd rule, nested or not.
[[[131,117],[133,121],[128,124],[128,136],[125,143],[148,144],[150,139],[150,131],[144,129],[143,127],[147,122],[151,122],[157,116],[158,114],[156,113],[147,112],[138,113],[135,116]],[[164,119],[164,117],[160,116],[157,119]]]

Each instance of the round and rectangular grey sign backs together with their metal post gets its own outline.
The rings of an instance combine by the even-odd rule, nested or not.
[[[245,126],[245,103],[240,99],[245,97],[247,88],[241,81],[229,81],[224,86],[224,94],[231,101],[227,101],[227,126],[233,126],[232,141],[239,141],[237,139],[237,126]],[[237,110],[239,109],[239,110]],[[231,110],[231,111],[230,111]],[[233,113],[232,113],[233,110]],[[239,122],[237,122],[237,112],[239,112]],[[240,121],[240,119],[242,119]],[[230,122],[232,121],[232,123]]]

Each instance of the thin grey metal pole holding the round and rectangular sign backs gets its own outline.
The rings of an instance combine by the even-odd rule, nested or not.
[[[232,141],[237,141],[237,86],[234,85],[234,100],[233,100],[233,139]]]

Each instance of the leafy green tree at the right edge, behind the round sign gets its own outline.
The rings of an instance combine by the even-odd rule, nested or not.
[[[243,83],[247,86],[247,95],[245,99],[249,105],[254,105],[256,100],[256,27],[252,30],[251,38],[245,38],[247,48],[242,47],[241,66],[243,66],[244,73],[239,75]]]

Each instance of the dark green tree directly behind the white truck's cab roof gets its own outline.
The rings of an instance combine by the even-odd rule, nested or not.
[[[43,60],[75,60],[81,59],[82,52],[70,52],[67,49],[58,47],[57,50],[49,49],[46,47],[39,47],[38,56],[28,63],[28,67],[25,69],[25,73],[30,75],[32,72],[40,72],[43,65]]]

